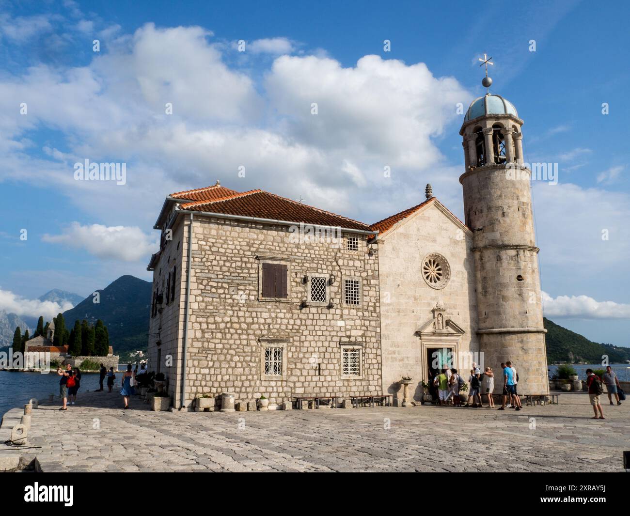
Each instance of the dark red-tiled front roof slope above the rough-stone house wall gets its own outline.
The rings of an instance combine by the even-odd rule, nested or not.
[[[280,197],[275,193],[263,192],[263,190],[249,190],[242,193],[230,190],[230,192],[232,193],[212,200],[197,200],[182,204],[181,209],[370,231],[370,227],[363,222]]]

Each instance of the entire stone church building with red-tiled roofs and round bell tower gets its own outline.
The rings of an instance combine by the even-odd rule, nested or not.
[[[173,406],[196,396],[401,399],[447,360],[547,394],[547,360],[523,120],[498,95],[471,103],[465,221],[424,202],[371,226],[262,190],[171,193],[154,229],[149,368]]]

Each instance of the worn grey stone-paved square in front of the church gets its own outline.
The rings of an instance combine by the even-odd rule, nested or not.
[[[117,393],[83,393],[66,412],[33,410],[28,444],[40,449],[3,453],[37,457],[42,471],[622,471],[630,403],[606,404],[607,419],[592,420],[586,394],[560,398],[520,412],[170,413],[138,397],[123,411]],[[22,413],[6,413],[2,441]]]

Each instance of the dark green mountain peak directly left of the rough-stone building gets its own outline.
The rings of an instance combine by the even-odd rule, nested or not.
[[[151,290],[150,282],[134,276],[121,276],[105,289],[96,291],[100,294],[100,302],[93,302],[94,296],[89,295],[77,306],[65,311],[66,328],[71,329],[77,320],[87,319],[95,323],[101,319],[107,326],[110,346],[116,355],[125,357],[132,351],[146,351]]]

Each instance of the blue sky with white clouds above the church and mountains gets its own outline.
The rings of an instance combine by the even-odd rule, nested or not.
[[[557,185],[532,185],[546,313],[630,345],[629,11],[0,2],[0,309],[30,315],[52,288],[149,279],[164,195],[217,179],[364,222],[418,204],[430,182],[463,218],[455,106],[483,95],[488,52],[491,91],[525,120],[526,160],[558,163]],[[85,158],[125,162],[126,184],[74,181]]]

